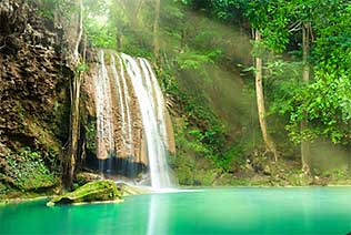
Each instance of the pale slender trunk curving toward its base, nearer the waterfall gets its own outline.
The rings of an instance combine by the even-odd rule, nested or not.
[[[257,42],[261,41],[261,34],[258,30],[254,32],[254,40]],[[262,85],[262,59],[261,55],[255,57],[255,95],[259,112],[259,121],[262,132],[262,137],[265,144],[267,151],[273,153],[274,160],[278,161],[278,153],[275,144],[267,131],[265,122],[265,110],[264,110],[264,96],[263,96],[263,85]]]

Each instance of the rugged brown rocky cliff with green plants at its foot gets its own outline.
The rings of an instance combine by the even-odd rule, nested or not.
[[[0,2],[0,195],[59,183],[73,75],[63,34],[34,3]]]

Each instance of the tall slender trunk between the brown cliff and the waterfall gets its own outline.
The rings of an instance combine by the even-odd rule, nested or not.
[[[82,0],[79,1],[80,13],[79,13],[79,27],[77,41],[73,48],[74,63],[76,67],[79,65],[79,44],[82,39],[83,33],[83,3]],[[80,100],[80,83],[82,73],[76,72],[71,81],[71,116],[70,116],[70,137],[69,137],[69,153],[68,159],[64,164],[63,184],[66,188],[70,188],[73,183],[76,163],[78,159],[78,142],[79,142],[79,100]]]

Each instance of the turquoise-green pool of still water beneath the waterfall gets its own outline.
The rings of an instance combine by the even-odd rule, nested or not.
[[[0,234],[347,234],[351,187],[225,188],[0,206]]]

